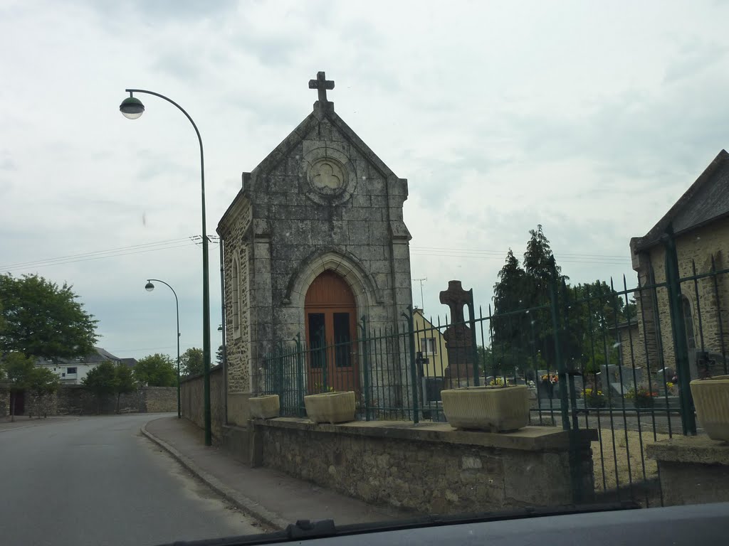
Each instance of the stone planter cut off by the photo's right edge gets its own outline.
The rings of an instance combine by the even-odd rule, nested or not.
[[[690,385],[696,416],[706,435],[729,442],[729,376],[694,379]]]

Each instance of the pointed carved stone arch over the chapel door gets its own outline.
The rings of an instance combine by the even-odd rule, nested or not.
[[[333,248],[324,248],[305,258],[303,264],[292,274],[283,304],[303,309],[309,285],[324,271],[340,274],[354,293],[360,312],[366,312],[370,306],[382,303],[380,288],[356,256]]]

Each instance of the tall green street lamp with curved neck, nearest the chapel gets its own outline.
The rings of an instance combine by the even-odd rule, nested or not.
[[[203,155],[203,139],[200,138],[198,126],[192,121],[190,114],[187,114],[184,108],[179,106],[174,100],[154,91],[146,91],[143,89],[127,89],[125,91],[129,93],[129,96],[122,100],[119,106],[119,110],[123,116],[128,119],[137,119],[141,114],[144,114],[144,104],[141,103],[141,100],[133,96],[134,93],[154,95],[176,106],[190,120],[192,127],[195,129],[195,134],[198,135],[198,142],[200,143],[200,189],[203,205],[203,406],[205,416],[205,445],[211,446],[213,441],[210,422],[210,282],[208,280],[208,235],[205,226],[205,157]]]

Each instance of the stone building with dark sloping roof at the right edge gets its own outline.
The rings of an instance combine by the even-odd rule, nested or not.
[[[620,328],[621,357],[633,358],[641,367],[649,365],[652,371],[675,367],[668,293],[660,286],[666,282],[664,242],[671,229],[682,279],[685,341],[695,378],[703,362],[714,361],[723,368],[729,352],[729,274],[711,274],[729,268],[729,154],[725,150],[647,234],[631,239],[633,269],[640,285],[659,286],[635,294],[637,317]],[[686,279],[695,274],[709,275]],[[632,344],[625,343],[628,338]]]

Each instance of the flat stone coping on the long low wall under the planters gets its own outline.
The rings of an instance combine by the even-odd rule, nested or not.
[[[395,438],[426,442],[464,444],[487,448],[516,449],[521,451],[566,451],[569,431],[560,427],[524,427],[515,432],[481,432],[458,430],[448,423],[418,423],[411,421],[354,421],[342,424],[314,424],[308,419],[278,417],[252,419],[256,427],[274,427],[310,432],[326,432],[370,438]],[[577,440],[589,446],[597,440],[597,430],[577,431]]]

